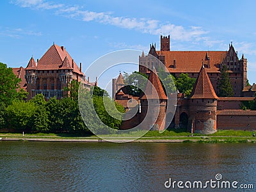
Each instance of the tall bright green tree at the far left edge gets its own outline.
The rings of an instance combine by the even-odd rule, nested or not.
[[[0,100],[7,106],[12,104],[12,100],[19,98],[17,88],[20,87],[21,79],[13,74],[12,68],[0,63]]]

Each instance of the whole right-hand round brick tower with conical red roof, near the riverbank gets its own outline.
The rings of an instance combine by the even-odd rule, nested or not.
[[[211,134],[217,131],[217,100],[204,65],[189,98],[189,127],[193,132]]]

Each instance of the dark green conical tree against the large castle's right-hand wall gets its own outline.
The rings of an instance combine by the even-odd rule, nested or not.
[[[220,79],[218,79],[218,97],[233,97],[234,91],[230,83],[227,66],[223,65],[221,68]]]

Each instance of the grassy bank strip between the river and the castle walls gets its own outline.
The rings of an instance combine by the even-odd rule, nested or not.
[[[109,134],[100,135],[100,138],[110,138],[111,140],[132,140],[143,134],[141,131],[129,132],[125,134]],[[151,141],[181,141],[183,143],[256,143],[256,137],[252,136],[252,131],[234,131],[234,130],[219,130],[214,134],[203,135],[193,134],[187,132],[185,129],[172,129],[170,131],[148,131],[143,137],[138,140],[151,140]],[[24,134],[22,133],[0,133],[0,138],[20,138],[22,139],[58,139],[58,140],[100,140],[97,136],[88,134],[85,136],[79,136],[77,134],[67,133],[35,133],[35,134]]]

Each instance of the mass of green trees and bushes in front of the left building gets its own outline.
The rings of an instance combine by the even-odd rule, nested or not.
[[[26,100],[24,90],[17,92],[20,79],[15,77],[12,68],[0,63],[0,130],[13,132],[68,132],[87,134],[90,132],[84,119],[93,122],[94,116],[81,116],[78,104],[79,83],[72,81],[64,90],[68,97],[45,100],[44,95],[38,94],[31,100]],[[104,107],[104,100],[124,113],[124,108],[108,97],[105,90],[95,86],[93,92],[85,91],[86,99],[93,100],[93,106],[85,106],[94,110],[104,124],[118,129],[122,120],[113,118]],[[114,104],[114,105],[113,105]],[[114,110],[114,109],[111,109]],[[92,124],[94,125],[94,124]]]

